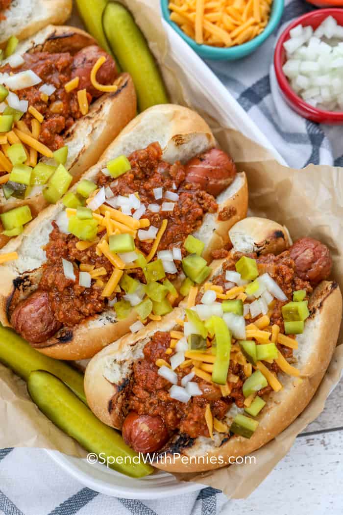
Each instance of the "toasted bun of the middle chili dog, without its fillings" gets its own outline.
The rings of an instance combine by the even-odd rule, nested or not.
[[[172,163],[187,162],[215,144],[213,135],[198,114],[174,105],[154,106],[137,116],[118,138],[104,152],[99,163],[89,169],[83,178],[94,180],[107,161],[121,154],[127,156],[134,150],[158,142],[163,149],[163,158]],[[236,215],[221,222],[216,231],[216,216],[205,216],[203,226],[197,234],[203,239],[209,251],[221,248],[228,242],[228,230],[234,220],[245,216],[247,211],[247,184],[244,173],[220,195],[220,208],[236,205]],[[45,261],[42,246],[48,242],[52,229],[51,221],[63,211],[62,202],[50,205],[26,227],[24,232],[10,241],[2,252],[16,251],[19,259],[0,267],[0,319],[10,326],[9,309],[26,298],[37,288],[40,267]],[[129,332],[136,320],[134,308],[125,320],[116,322],[113,309],[86,319],[77,327],[62,329],[43,343],[38,350],[59,359],[85,359],[94,356],[104,346]]]

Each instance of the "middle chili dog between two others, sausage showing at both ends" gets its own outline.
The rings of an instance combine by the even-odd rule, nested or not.
[[[83,359],[171,311],[246,214],[245,174],[223,151],[219,195],[213,180],[189,180],[192,158],[212,163],[213,147],[189,109],[156,106],[135,118],[67,200],[3,249],[2,323],[45,354]]]

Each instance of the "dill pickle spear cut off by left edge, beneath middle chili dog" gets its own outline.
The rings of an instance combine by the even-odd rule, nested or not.
[[[60,377],[85,404],[83,374],[58,359],[45,356],[33,349],[11,329],[0,327],[0,362],[9,367],[24,381],[33,370],[47,370]]]

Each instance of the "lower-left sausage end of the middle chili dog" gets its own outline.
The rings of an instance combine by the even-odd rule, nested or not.
[[[53,315],[47,291],[35,291],[15,307],[11,323],[14,330],[33,346],[45,342],[56,333],[61,323]]]

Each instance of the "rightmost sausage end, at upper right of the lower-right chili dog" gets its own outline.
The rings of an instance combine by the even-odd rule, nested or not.
[[[332,259],[326,245],[313,238],[300,238],[290,248],[300,279],[318,284],[330,276]]]

